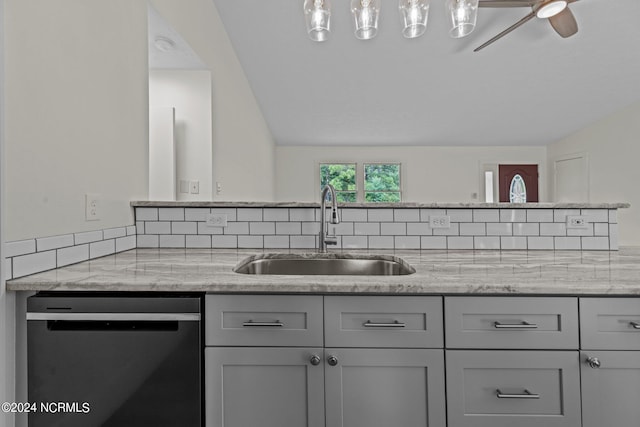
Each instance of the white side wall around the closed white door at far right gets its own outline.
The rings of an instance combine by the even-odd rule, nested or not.
[[[586,153],[590,201],[631,203],[630,209],[618,211],[620,246],[640,245],[639,141],[640,103],[636,103],[547,147],[551,190],[554,160]]]

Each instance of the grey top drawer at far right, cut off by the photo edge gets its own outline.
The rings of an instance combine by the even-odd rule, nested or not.
[[[580,338],[589,350],[640,350],[640,298],[580,298]]]

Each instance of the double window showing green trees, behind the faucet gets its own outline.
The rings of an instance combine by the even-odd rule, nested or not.
[[[402,200],[400,163],[321,163],[320,190],[327,184],[335,187],[338,202]]]

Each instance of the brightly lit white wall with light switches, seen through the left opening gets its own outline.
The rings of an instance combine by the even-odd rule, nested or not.
[[[176,200],[211,200],[211,73],[202,70],[150,70],[149,106],[175,108],[176,179],[199,181],[198,194]]]

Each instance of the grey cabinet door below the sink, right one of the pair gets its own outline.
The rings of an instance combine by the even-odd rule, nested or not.
[[[326,349],[325,400],[331,427],[444,427],[443,351]]]

